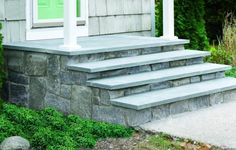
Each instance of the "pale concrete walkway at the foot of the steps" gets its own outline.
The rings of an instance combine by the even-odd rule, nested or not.
[[[236,102],[153,121],[141,128],[236,149]]]

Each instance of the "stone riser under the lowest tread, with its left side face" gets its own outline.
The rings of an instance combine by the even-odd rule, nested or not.
[[[234,100],[236,100],[236,90],[191,98],[139,111],[122,107],[95,105],[93,106],[92,118],[127,126],[138,126],[153,120],[167,118],[184,112],[196,111]]]

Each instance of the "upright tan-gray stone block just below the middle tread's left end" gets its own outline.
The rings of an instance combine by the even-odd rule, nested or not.
[[[92,117],[92,90],[85,86],[72,86],[71,113],[83,118]]]

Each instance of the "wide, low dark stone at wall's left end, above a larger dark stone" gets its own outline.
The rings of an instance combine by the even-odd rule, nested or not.
[[[13,71],[8,72],[8,80],[18,84],[25,84],[25,85],[29,84],[28,76]]]

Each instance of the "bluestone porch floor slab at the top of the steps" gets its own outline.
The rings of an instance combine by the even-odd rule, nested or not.
[[[6,43],[4,44],[4,48],[61,55],[82,55],[145,47],[187,44],[188,42],[189,40],[184,39],[166,40],[156,37],[107,35],[96,37],[80,37],[78,38],[78,44],[81,46],[81,48],[73,50],[68,50],[61,47],[61,45],[63,45],[63,39]]]

